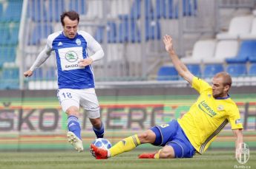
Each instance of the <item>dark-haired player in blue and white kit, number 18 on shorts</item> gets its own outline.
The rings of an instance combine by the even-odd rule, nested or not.
[[[83,151],[81,127],[79,124],[79,107],[87,111],[97,138],[104,135],[104,125],[100,119],[99,103],[94,90],[94,77],[91,64],[104,56],[100,44],[87,32],[78,30],[79,14],[75,11],[61,15],[63,30],[54,32],[47,38],[47,45],[39,53],[35,63],[25,77],[55,52],[58,69],[57,97],[62,110],[68,114],[68,141],[76,151]],[[94,54],[88,56],[88,50]]]

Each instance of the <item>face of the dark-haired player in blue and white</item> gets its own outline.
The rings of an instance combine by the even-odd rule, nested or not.
[[[78,21],[72,21],[68,16],[65,16],[63,19],[64,21],[64,27],[63,31],[65,33],[65,36],[68,38],[75,38],[76,32],[77,32],[77,27],[78,27]]]

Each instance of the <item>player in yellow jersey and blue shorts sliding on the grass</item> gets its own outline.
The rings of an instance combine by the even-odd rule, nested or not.
[[[240,113],[228,94],[232,86],[230,75],[226,72],[217,73],[210,86],[188,71],[186,65],[175,54],[169,35],[163,37],[163,42],[179,75],[199,92],[200,97],[179,120],[171,120],[167,124],[156,125],[142,134],[122,139],[108,151],[91,145],[96,159],[107,159],[131,151],[144,143],[160,145],[163,148],[154,154],[141,154],[139,158],[191,158],[196,152],[203,154],[227,123],[231,124],[236,137],[236,148],[243,142]]]

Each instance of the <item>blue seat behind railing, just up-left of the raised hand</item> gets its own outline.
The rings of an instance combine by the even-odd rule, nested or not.
[[[161,28],[158,20],[145,19],[145,40],[150,39],[161,39]]]

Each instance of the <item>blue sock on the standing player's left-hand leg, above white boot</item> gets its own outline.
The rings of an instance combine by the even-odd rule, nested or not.
[[[72,131],[73,134],[76,134],[76,137],[81,139],[81,127],[77,117],[75,116],[68,117],[68,131]]]

